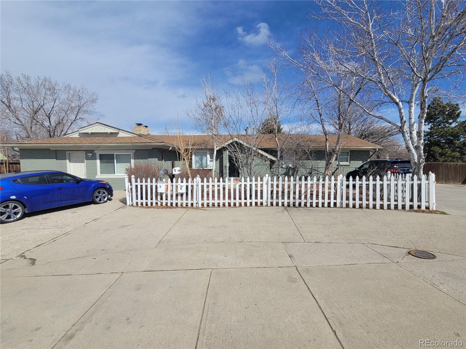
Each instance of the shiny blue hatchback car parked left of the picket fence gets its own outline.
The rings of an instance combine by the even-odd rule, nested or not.
[[[0,175],[0,222],[19,220],[25,212],[92,201],[101,204],[113,196],[106,181],[79,178],[60,171],[25,171]]]

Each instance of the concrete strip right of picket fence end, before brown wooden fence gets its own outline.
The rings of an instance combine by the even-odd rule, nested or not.
[[[435,201],[440,211],[466,216],[466,185],[436,184]]]

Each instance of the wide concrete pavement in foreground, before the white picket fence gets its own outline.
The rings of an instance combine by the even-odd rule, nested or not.
[[[0,344],[464,342],[465,223],[463,216],[336,208],[117,209],[26,252],[27,267],[1,264]],[[413,248],[437,258],[412,257]]]

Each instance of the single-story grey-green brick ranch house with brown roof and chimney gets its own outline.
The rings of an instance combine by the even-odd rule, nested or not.
[[[213,143],[210,137],[194,135],[190,168],[212,168]],[[324,136],[302,135],[303,142],[313,149],[312,160],[302,168],[285,165],[276,159],[274,135],[264,134],[259,140],[259,156],[255,162],[256,175],[276,174],[275,166],[281,163],[282,175],[319,175],[323,170]],[[333,138],[334,136],[332,136]],[[332,138],[330,141],[332,141]],[[137,164],[151,164],[158,168],[181,166],[174,137],[150,134],[149,128],[136,124],[133,132],[95,122],[63,137],[42,138],[4,144],[20,150],[21,171],[59,170],[78,177],[108,181],[116,190],[124,189],[125,169]],[[234,140],[234,139],[233,139]],[[232,138],[230,138],[232,141]],[[333,138],[335,141],[335,138]],[[380,148],[377,144],[345,135],[339,156],[340,170],[346,172],[369,160],[370,151]],[[238,177],[239,171],[225,144],[218,145],[216,176]]]

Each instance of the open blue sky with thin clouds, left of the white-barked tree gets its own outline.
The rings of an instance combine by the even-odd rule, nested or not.
[[[1,1],[1,69],[99,94],[99,121],[161,132],[199,93],[258,80],[262,36],[293,46],[308,1]]]

